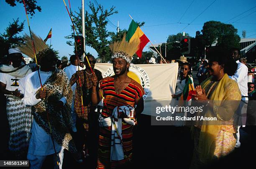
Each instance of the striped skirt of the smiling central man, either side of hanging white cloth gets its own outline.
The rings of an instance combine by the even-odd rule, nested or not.
[[[97,169],[115,169],[128,162],[133,153],[133,126],[122,122],[124,159],[110,162],[111,126],[100,127]]]

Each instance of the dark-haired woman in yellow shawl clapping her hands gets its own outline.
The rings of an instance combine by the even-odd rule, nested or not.
[[[191,168],[202,167],[229,154],[236,144],[233,116],[241,100],[241,92],[237,82],[228,75],[234,75],[237,64],[224,50],[214,49],[210,52],[207,67],[211,77],[197,86],[197,94],[193,95],[195,100],[207,103],[204,117],[217,117],[217,121],[215,124],[204,121],[202,125],[192,127],[195,148]]]

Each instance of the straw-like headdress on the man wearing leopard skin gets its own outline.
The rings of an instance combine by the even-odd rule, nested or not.
[[[46,43],[44,42],[44,40],[42,40],[41,37],[36,36],[36,34],[34,34],[33,32],[32,32],[32,35],[33,35],[35,50],[37,52],[36,58],[37,60],[40,60],[41,55],[38,55],[38,54],[40,54],[41,51],[46,51],[51,49],[46,45]],[[19,44],[20,46],[18,46],[18,48],[23,54],[27,55],[28,57],[31,57],[32,59],[35,59],[30,35],[25,34],[22,39],[24,42],[20,43]]]

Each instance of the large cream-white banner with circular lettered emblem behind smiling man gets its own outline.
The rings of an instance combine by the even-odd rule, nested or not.
[[[108,77],[115,75],[113,65],[110,63],[96,63],[95,69],[102,72],[102,76]],[[170,64],[143,64],[131,65],[128,76],[136,80],[143,87],[145,94],[143,114],[151,115],[150,107],[165,106],[157,104],[157,101],[172,100],[175,92],[178,75],[178,63]],[[152,102],[154,100],[154,102]],[[154,104],[154,105],[152,105]]]

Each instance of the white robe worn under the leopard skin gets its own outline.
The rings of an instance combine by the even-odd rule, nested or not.
[[[52,72],[43,72],[39,70],[42,84],[52,75]],[[23,103],[28,106],[34,106],[41,99],[36,99],[36,91],[41,88],[40,80],[38,77],[38,72],[32,72],[26,78],[26,86],[24,92],[24,98],[22,99]],[[60,99],[64,104],[67,103],[66,97]],[[33,119],[32,135],[29,143],[28,153],[39,156],[46,156],[54,154],[54,148],[52,139],[49,134],[47,134],[43,128],[41,128],[36,120]],[[61,150],[61,146],[54,141],[56,152]]]

